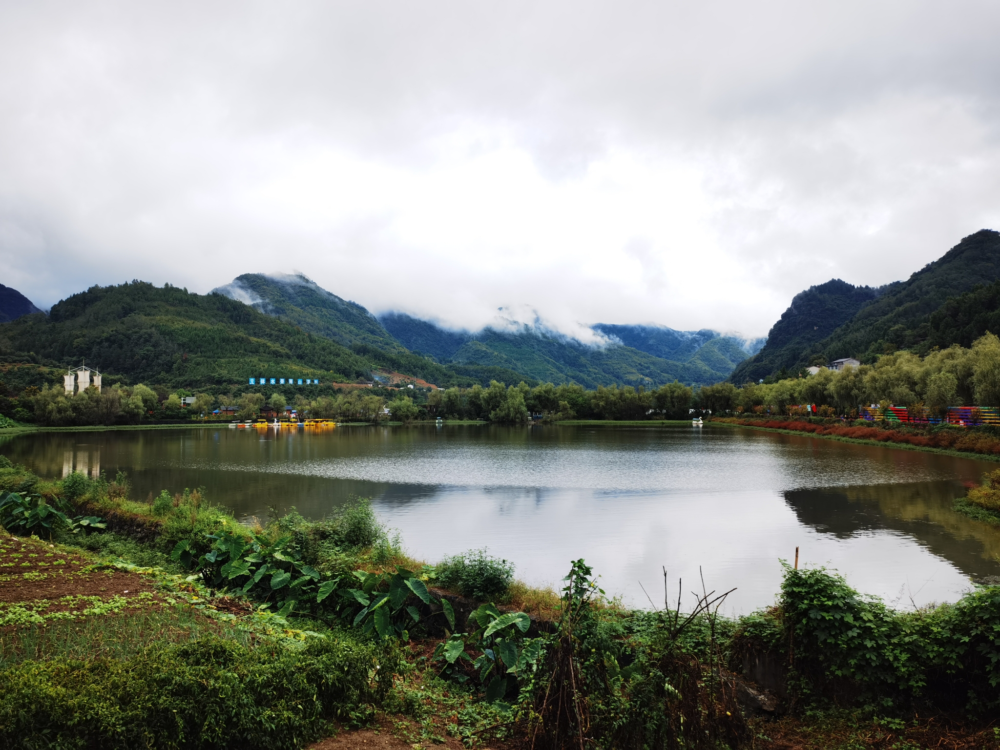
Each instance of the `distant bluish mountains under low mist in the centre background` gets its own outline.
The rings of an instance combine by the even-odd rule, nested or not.
[[[708,330],[601,324],[594,330],[611,339],[611,343],[590,346],[528,326],[519,331],[487,327],[471,333],[449,331],[403,313],[387,313],[379,320],[403,346],[440,362],[506,367],[537,380],[576,382],[587,388],[612,383],[650,386],[674,380],[716,383],[748,356],[740,339]],[[674,357],[666,358],[657,352],[672,352]]]

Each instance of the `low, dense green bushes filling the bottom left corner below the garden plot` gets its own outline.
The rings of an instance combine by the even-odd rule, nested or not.
[[[206,637],[0,672],[0,746],[294,748],[370,719],[398,661],[339,635],[300,649]]]

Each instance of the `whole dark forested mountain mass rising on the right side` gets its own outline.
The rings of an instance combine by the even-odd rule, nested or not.
[[[871,289],[834,279],[810,287],[796,295],[767,345],[739,365],[731,380],[742,383],[841,357],[873,362],[896,349],[924,353],[933,346],[968,346],[985,330],[998,328],[998,316],[990,315],[995,307],[989,307],[996,291],[986,287],[969,294],[997,279],[1000,233],[983,229],[906,281]]]

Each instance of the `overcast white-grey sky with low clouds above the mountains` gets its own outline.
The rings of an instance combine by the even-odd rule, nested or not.
[[[0,281],[763,335],[1000,228],[995,2],[0,4]]]

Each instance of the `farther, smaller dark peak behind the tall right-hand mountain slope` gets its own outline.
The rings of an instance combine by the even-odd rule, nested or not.
[[[818,342],[877,296],[876,289],[853,286],[840,279],[830,279],[799,292],[771,326],[764,347],[737,365],[730,379],[734,383],[756,382],[782,368],[791,370],[801,365],[803,358],[808,359],[814,353]]]

